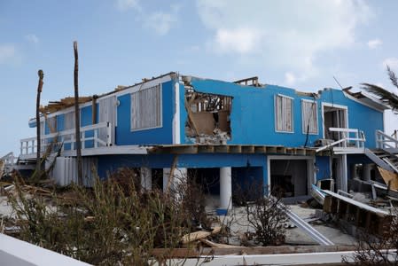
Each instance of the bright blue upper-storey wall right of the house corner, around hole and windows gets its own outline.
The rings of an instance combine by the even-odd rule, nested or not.
[[[310,96],[297,94],[295,90],[267,85],[261,88],[242,86],[231,82],[192,78],[193,89],[199,92],[221,94],[232,97],[230,114],[231,139],[228,144],[303,146],[307,135],[302,133],[301,99],[313,100]],[[274,98],[277,94],[293,98],[293,133],[275,131]],[[183,90],[180,91],[181,138],[185,137],[184,124],[187,114],[183,106]],[[348,127],[363,129],[367,138],[366,146],[374,147],[374,132],[383,129],[383,113],[346,98],[341,90],[324,90],[316,99],[318,107],[318,134],[308,135],[308,146],[323,137],[322,102],[348,107]],[[364,120],[366,118],[366,120]]]

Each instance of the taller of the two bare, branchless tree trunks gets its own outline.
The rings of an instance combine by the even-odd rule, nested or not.
[[[76,160],[77,160],[77,183],[83,184],[82,173],[82,143],[80,140],[80,112],[79,112],[79,58],[77,52],[77,42],[74,41],[74,115],[76,129]]]

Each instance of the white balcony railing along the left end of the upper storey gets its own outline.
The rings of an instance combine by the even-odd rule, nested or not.
[[[111,135],[112,132],[112,124],[110,122],[101,122],[95,125],[82,127],[80,129],[82,149],[113,145]],[[62,151],[73,151],[76,149],[75,129],[68,129],[65,131],[44,135],[41,137],[41,142],[42,153],[49,145],[62,145]],[[21,155],[35,154],[37,153],[36,151],[36,137],[28,137],[20,140]]]

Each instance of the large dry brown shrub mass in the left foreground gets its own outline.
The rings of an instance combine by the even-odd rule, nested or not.
[[[16,184],[9,200],[20,239],[99,265],[148,265],[155,262],[153,248],[178,247],[190,231],[181,202],[157,191],[140,192],[137,176],[121,173],[106,182],[97,178],[91,189],[73,185],[73,200],[56,192],[51,198],[26,194]]]

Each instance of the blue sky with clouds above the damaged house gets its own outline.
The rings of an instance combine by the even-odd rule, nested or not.
[[[305,91],[337,88],[335,76],[396,92],[386,64],[398,72],[397,10],[394,0],[0,0],[0,155],[35,136],[38,69],[42,104],[73,96],[74,40],[82,96],[169,71]]]

